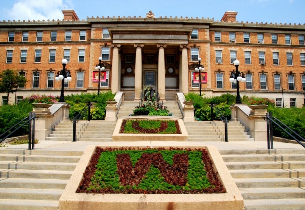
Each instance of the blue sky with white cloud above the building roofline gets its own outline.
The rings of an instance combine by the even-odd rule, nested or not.
[[[188,4],[189,3],[189,4]],[[305,0],[0,0],[0,20],[63,19],[73,9],[80,20],[124,15],[158,18],[178,16],[221,20],[224,12],[238,12],[236,20],[263,23],[305,23]]]

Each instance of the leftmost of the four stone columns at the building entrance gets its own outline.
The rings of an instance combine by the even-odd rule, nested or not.
[[[111,92],[119,91],[119,47],[121,44],[111,44],[112,52],[112,71],[111,71]]]

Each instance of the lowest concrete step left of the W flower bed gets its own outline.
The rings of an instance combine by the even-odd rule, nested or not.
[[[1,209],[14,210],[58,210],[59,201],[26,200],[26,199],[0,199]]]

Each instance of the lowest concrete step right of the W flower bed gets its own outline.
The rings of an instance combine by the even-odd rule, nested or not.
[[[283,198],[283,199],[252,199],[244,200],[245,209],[260,209],[260,210],[270,210],[270,209],[304,209],[305,199],[304,198]]]

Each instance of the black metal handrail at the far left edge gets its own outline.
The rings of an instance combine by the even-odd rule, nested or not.
[[[24,122],[25,121],[25,122]],[[32,122],[33,121],[33,122]],[[21,124],[22,123],[22,124]],[[4,133],[2,133],[0,135],[0,138],[2,136],[4,136],[5,134],[7,134],[5,137],[3,137],[0,140],[0,143],[3,142],[6,138],[8,138],[10,135],[12,135],[13,133],[15,133],[18,129],[20,129],[22,126],[24,126],[25,124],[29,123],[29,150],[33,150],[35,147],[35,112],[30,112],[28,117],[25,117],[24,119],[20,120],[19,122],[17,122],[15,125],[13,125],[11,128],[9,128],[8,130],[6,130]],[[21,124],[21,125],[20,125]],[[17,127],[18,126],[18,127]],[[16,128],[17,127],[17,128]],[[16,129],[14,129],[16,128]],[[13,130],[14,129],[14,130]],[[11,133],[9,133],[11,130],[13,130]],[[31,147],[31,143],[32,143],[32,147]]]

